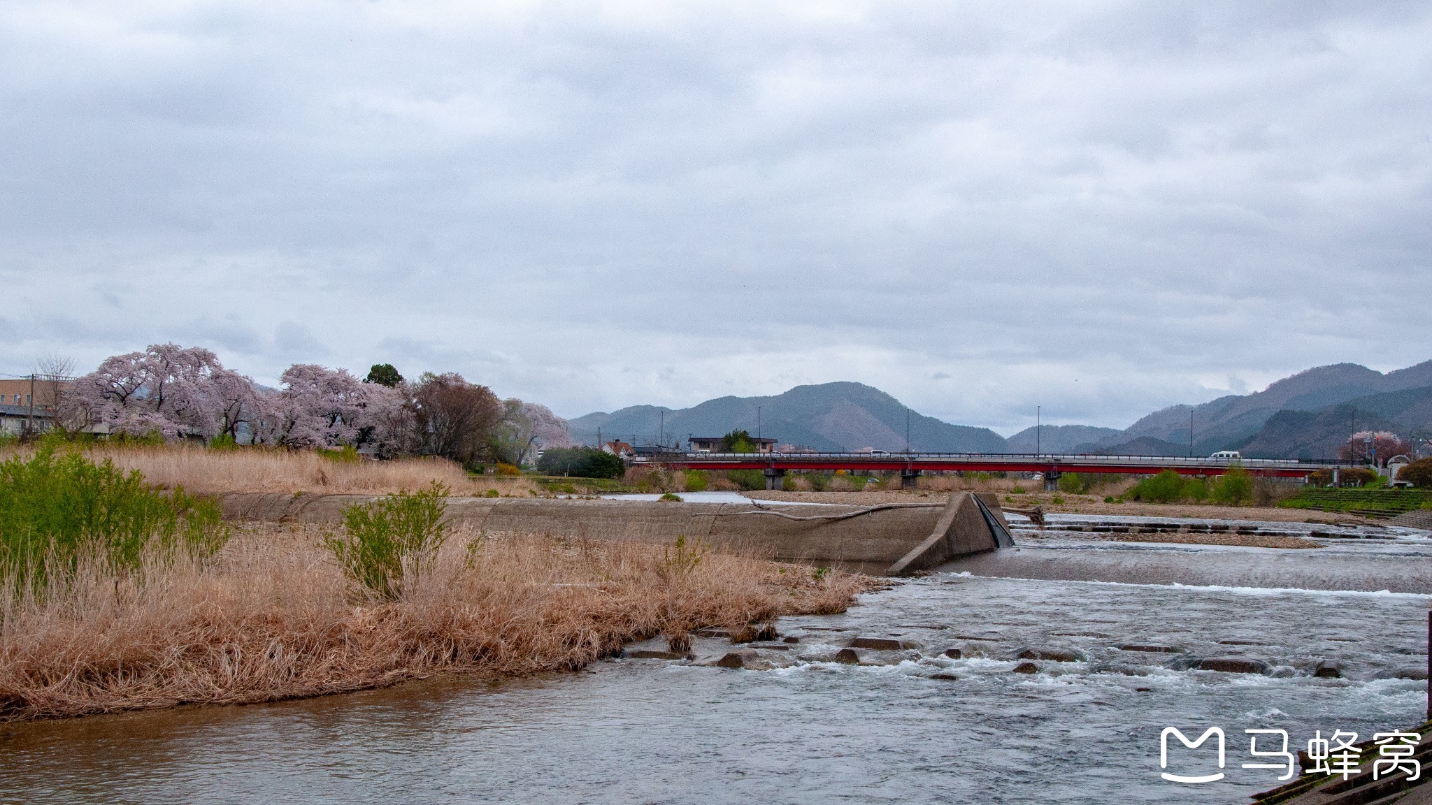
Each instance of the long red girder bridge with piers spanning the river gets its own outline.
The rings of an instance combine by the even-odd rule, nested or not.
[[[633,464],[682,470],[763,470],[766,487],[778,488],[788,470],[845,470],[899,473],[905,487],[922,473],[1042,473],[1047,487],[1064,473],[1126,473],[1151,476],[1173,470],[1181,476],[1221,476],[1242,467],[1254,476],[1307,478],[1317,470],[1352,467],[1348,461],[1292,458],[1186,458],[1177,455],[1050,455],[1017,453],[654,453]]]

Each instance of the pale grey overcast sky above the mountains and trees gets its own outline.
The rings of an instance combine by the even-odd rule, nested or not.
[[[0,372],[1012,433],[1432,358],[1428,3],[0,4]]]

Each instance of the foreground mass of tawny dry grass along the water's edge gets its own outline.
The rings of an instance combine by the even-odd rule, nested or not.
[[[0,720],[577,669],[663,632],[842,612],[862,586],[739,556],[683,573],[663,546],[460,531],[400,600],[374,604],[315,530],[253,526],[145,586],[90,569],[46,600],[0,599]]]

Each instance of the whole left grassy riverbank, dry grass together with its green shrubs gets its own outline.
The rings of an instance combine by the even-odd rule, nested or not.
[[[0,461],[0,720],[577,669],[656,635],[841,612],[866,583],[684,539],[474,533],[444,520],[435,481],[331,530],[233,526],[186,491],[226,483],[195,470],[226,466],[209,453],[96,453]],[[169,483],[120,471],[136,457]],[[221,458],[256,473],[305,460]]]

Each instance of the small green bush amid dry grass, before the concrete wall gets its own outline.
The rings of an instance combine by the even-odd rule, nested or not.
[[[394,600],[402,592],[404,570],[421,574],[447,539],[447,493],[432,481],[422,491],[349,506],[344,533],[328,534],[324,546],[357,586],[378,600]]]

